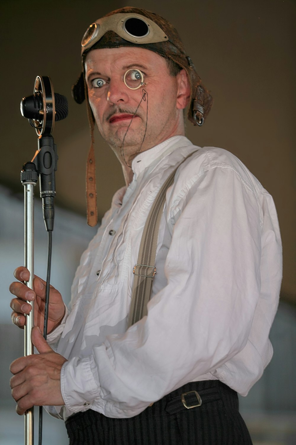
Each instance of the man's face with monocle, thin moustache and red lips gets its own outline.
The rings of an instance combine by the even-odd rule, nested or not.
[[[129,89],[124,84],[128,69],[139,69],[146,85]],[[85,78],[100,134],[117,155],[124,140],[124,156],[129,162],[143,138],[140,151],[183,134],[180,127],[184,125],[182,109],[186,106],[188,86],[186,94],[181,94],[181,90],[187,82],[186,73],[182,70],[172,77],[160,55],[143,48],[94,49],[85,60]],[[143,94],[145,100],[141,101]]]

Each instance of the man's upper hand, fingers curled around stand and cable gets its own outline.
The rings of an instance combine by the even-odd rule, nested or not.
[[[24,281],[28,281],[30,273],[25,267],[18,267],[14,271],[14,276],[18,281],[11,283],[9,291],[16,295],[17,298],[12,299],[10,307],[12,308],[12,322],[24,328],[26,317],[32,310],[32,306],[26,303],[28,301],[35,301],[34,307],[34,326],[38,326],[40,331],[43,332],[44,325],[44,306],[45,306],[45,281],[35,275],[34,278],[34,291],[27,287]],[[64,317],[65,307],[60,292],[54,287],[50,286],[49,293],[49,307],[48,307],[48,328],[47,333],[56,328],[62,318]]]

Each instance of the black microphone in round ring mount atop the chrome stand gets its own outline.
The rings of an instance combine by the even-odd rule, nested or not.
[[[47,231],[52,231],[56,196],[55,171],[58,160],[52,131],[55,121],[61,121],[68,116],[68,100],[62,94],[53,92],[52,82],[48,76],[37,76],[34,93],[22,98],[20,112],[22,116],[28,117],[28,121],[38,134],[38,150],[32,162],[39,173],[45,227]]]

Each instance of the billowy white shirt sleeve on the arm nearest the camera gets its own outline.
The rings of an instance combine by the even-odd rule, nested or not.
[[[247,344],[261,286],[258,197],[228,166],[174,187],[167,285],[124,335],[63,365],[62,394],[74,412],[87,405],[108,417],[135,416],[173,389],[213,375]]]

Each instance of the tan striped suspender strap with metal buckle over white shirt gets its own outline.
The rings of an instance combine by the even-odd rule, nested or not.
[[[174,182],[176,170],[193,153],[189,154],[164,182],[146,219],[137,264],[133,269],[134,280],[132,283],[132,301],[128,316],[128,328],[147,315],[147,304],[151,297],[153,278],[156,274],[156,247],[166,192],[168,187]]]

